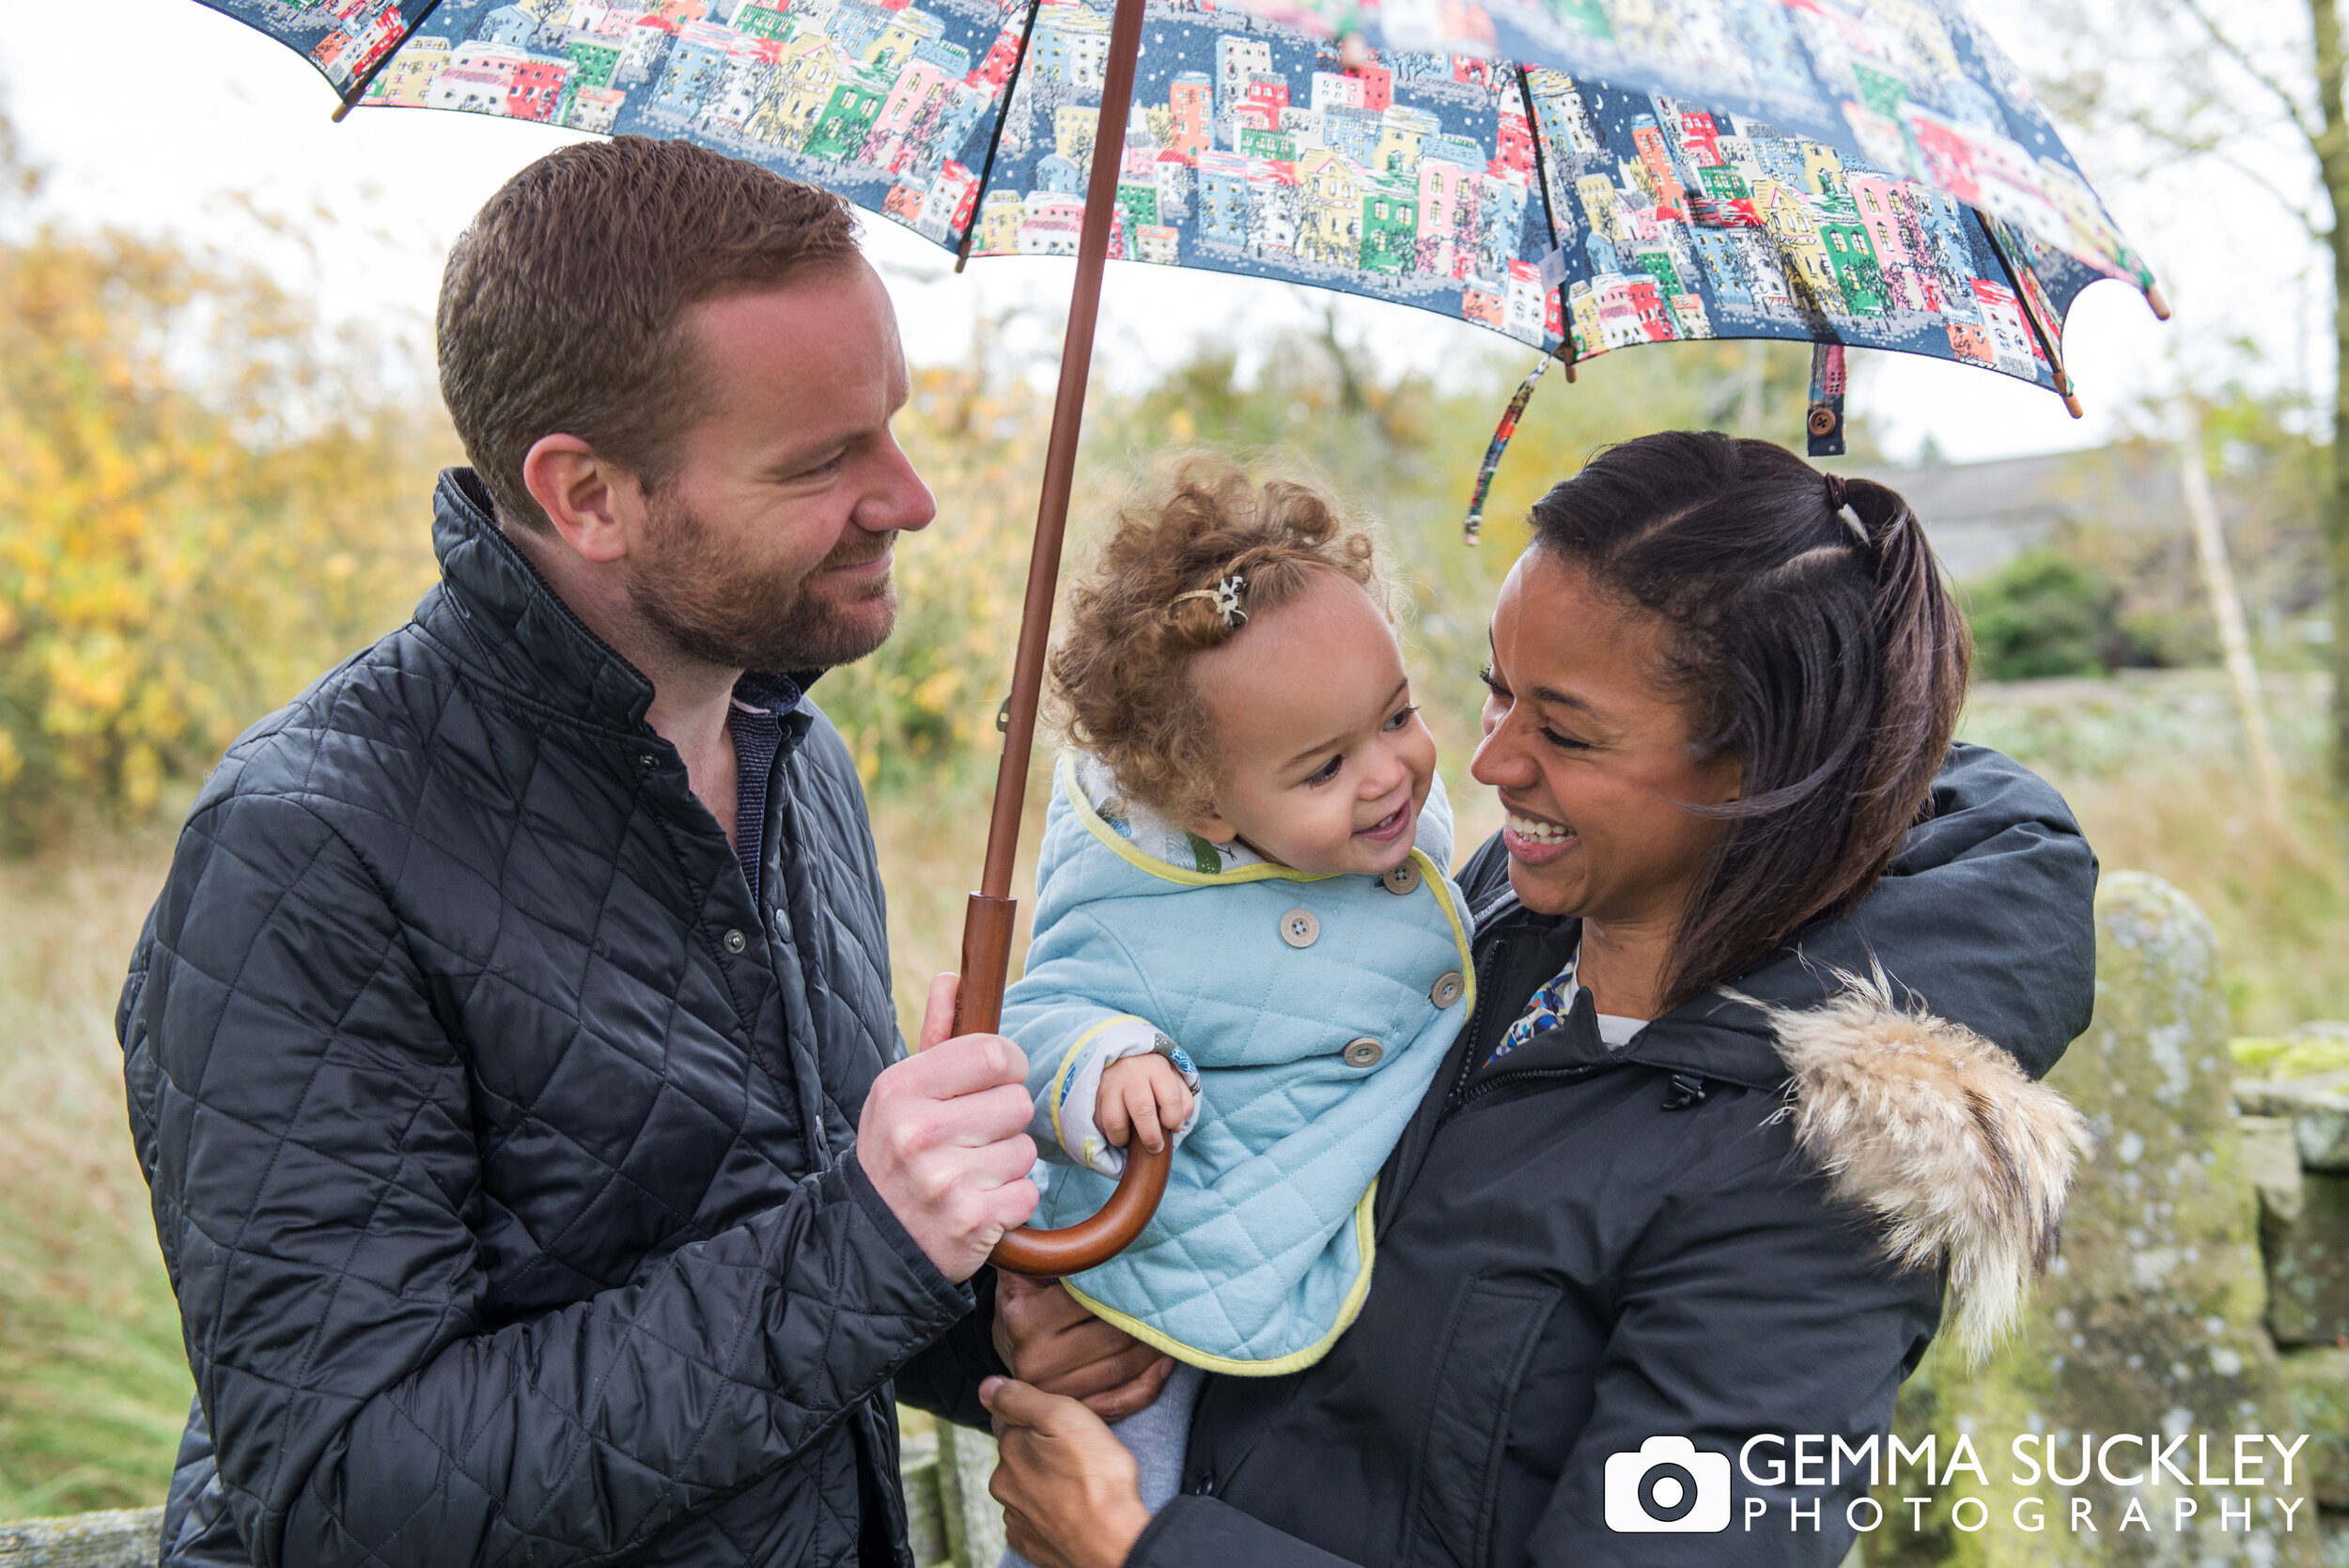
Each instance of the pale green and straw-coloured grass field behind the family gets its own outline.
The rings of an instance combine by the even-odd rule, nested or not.
[[[2065,789],[2107,869],[2154,871],[2203,904],[2243,1033],[2349,1019],[2342,822],[2307,772],[2323,692],[2276,678],[2269,702],[2295,761],[2288,826],[2257,812],[2213,674],[1990,685],[1966,721]],[[1459,772],[1466,725],[1442,730],[1473,845],[1494,812]],[[954,965],[984,784],[972,770],[874,803],[907,1007]],[[1031,822],[1041,793],[1038,777]],[[157,836],[0,864],[0,1519],[160,1500],[188,1408],[113,1042],[167,857]]]

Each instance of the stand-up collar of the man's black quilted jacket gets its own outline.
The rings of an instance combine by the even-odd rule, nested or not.
[[[451,617],[432,631],[479,676],[557,716],[644,735],[653,683],[587,629],[505,530],[489,486],[470,467],[442,469],[432,491],[432,554]],[[789,671],[806,690],[820,671]]]

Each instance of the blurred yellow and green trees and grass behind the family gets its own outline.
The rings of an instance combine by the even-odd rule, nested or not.
[[[0,122],[0,190],[31,183]],[[430,587],[428,495],[460,460],[395,340],[322,329],[237,258],[26,211],[9,223],[0,195],[0,1519],[162,1495],[188,1376],[122,1127],[122,965],[218,751]],[[907,1000],[954,962],[1019,608],[1048,366],[1008,340],[982,322],[965,361],[916,369],[902,439],[940,523],[900,554],[897,636],[815,692],[871,786]],[[1487,606],[1522,542],[1510,519],[1609,439],[1675,425],[1790,439],[1809,371],[1802,347],[1682,345],[1609,354],[1579,385],[1553,376],[1470,552],[1468,481],[1522,352],[1487,350],[1438,383],[1381,369],[1334,317],[1245,347],[1210,340],[1151,385],[1095,397],[1078,549],[1170,444],[1327,477],[1412,584],[1421,702],[1466,845],[1494,826],[1463,768]],[[2152,498],[2175,467],[2163,446],[2107,448],[2074,474],[2079,505],[1961,584],[1985,676],[1968,732],[2055,779],[2107,866],[2203,904],[2246,1033],[2349,1016],[2342,819],[2311,674],[2326,451],[2290,434],[2293,415],[2241,394],[2206,411],[2290,768],[2286,822],[2243,777],[2192,545]],[[1863,423],[1849,467],[1882,474],[1872,458]]]

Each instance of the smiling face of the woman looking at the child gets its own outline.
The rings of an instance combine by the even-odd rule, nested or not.
[[[1527,908],[1677,927],[1722,824],[1680,803],[1738,793],[1729,758],[1696,763],[1661,688],[1668,627],[1529,549],[1492,613],[1485,742],[1470,772],[1501,793],[1508,880]]]

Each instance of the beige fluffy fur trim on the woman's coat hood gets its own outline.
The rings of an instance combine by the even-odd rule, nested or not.
[[[1882,972],[1835,979],[1820,1007],[1762,1007],[1792,1073],[1778,1115],[1896,1263],[1947,1265],[1945,1331],[1978,1361],[2055,1256],[2088,1120],[1971,1028],[1893,1005]]]

